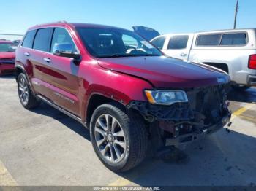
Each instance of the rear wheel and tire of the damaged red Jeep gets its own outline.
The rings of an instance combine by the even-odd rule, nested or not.
[[[17,82],[20,104],[22,104],[26,109],[33,109],[37,107],[40,102],[37,100],[34,94],[31,93],[29,82],[26,79],[25,74],[20,73]]]

